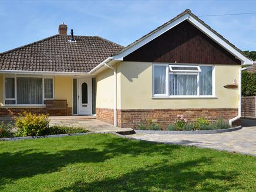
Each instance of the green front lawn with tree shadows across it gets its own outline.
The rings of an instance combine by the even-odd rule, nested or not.
[[[0,142],[2,191],[255,191],[256,157],[93,134]]]

